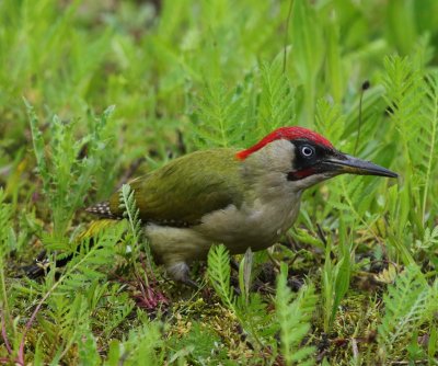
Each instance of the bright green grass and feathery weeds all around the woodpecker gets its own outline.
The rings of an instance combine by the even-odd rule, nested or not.
[[[437,18],[434,0],[2,1],[0,362],[437,365]],[[151,261],[128,185],[126,220],[82,210],[284,125],[401,176],[312,188],[281,244],[194,265],[198,291]],[[22,276],[43,249],[72,260]]]

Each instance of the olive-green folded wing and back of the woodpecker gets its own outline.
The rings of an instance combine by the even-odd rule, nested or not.
[[[200,222],[214,210],[243,201],[237,150],[197,151],[132,181],[142,221],[182,227]],[[120,216],[119,196],[110,199],[111,211]]]

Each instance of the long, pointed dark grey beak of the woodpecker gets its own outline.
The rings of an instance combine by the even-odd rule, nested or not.
[[[324,167],[330,170],[337,171],[339,174],[349,173],[357,175],[380,175],[389,178],[397,178],[399,174],[370,161],[361,160],[348,155],[339,155],[339,157],[331,157],[324,161]]]

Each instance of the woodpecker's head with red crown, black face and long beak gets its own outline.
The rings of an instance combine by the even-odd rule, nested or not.
[[[299,190],[344,173],[397,176],[385,168],[338,151],[326,138],[303,127],[278,128],[239,151],[237,158],[257,161],[260,167],[283,174]]]

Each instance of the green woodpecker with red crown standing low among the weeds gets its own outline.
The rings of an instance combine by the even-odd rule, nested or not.
[[[182,156],[129,185],[155,262],[173,281],[193,286],[189,264],[205,260],[212,244],[230,254],[272,247],[297,219],[303,191],[344,173],[397,178],[313,130],[286,126],[246,149]],[[124,217],[119,192],[85,210]]]

